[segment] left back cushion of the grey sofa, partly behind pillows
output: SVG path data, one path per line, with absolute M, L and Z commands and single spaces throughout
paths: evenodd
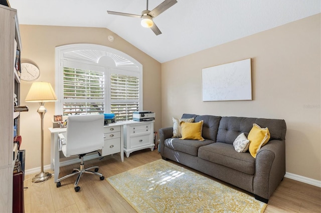
M 182 118 L 190 118 L 190 117 L 194 117 L 194 122 L 199 122 L 201 120 L 204 120 L 203 129 L 202 129 L 202 136 L 205 139 L 210 139 L 210 140 L 213 140 L 214 142 L 216 141 L 216 136 L 218 133 L 221 116 L 197 115 L 197 114 L 183 114 L 182 115 Z

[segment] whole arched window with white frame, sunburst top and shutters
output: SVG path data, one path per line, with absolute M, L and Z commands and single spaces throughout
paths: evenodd
M 142 65 L 108 46 L 56 47 L 56 114 L 115 113 L 132 119 L 142 109 Z

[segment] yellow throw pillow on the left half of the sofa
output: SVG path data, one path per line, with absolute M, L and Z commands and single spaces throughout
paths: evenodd
M 202 129 L 204 120 L 199 122 L 185 122 L 181 121 L 182 137 L 180 139 L 191 139 L 203 141 Z

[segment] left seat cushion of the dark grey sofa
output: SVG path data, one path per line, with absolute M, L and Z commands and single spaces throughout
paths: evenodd
M 209 140 L 209 139 L 205 139 L 204 141 L 189 140 L 189 139 L 181 140 L 177 137 L 167 138 L 164 141 L 166 147 L 170 149 L 182 151 L 184 153 L 188 153 L 194 156 L 197 156 L 198 149 L 200 146 L 207 145 L 213 142 L 214 142 L 213 140 Z

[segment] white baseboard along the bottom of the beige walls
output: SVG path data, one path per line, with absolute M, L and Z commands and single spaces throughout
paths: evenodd
M 89 160 L 89 159 L 94 159 L 94 158 L 97 158 L 97 155 L 93 154 L 93 155 L 84 156 L 84 160 Z M 71 159 L 71 160 L 65 160 L 65 161 L 61 161 L 60 162 L 60 166 L 70 165 L 70 164 L 77 163 L 77 162 L 80 162 L 79 158 L 74 158 L 74 159 Z M 44 170 L 45 171 L 46 170 L 50 170 L 50 169 L 51 169 L 50 165 L 45 165 L 44 166 Z M 36 167 L 36 168 L 27 169 L 27 170 L 25 170 L 25 174 L 39 173 L 40 170 L 41 170 L 40 166 Z M 297 181 L 300 181 L 300 182 L 304 182 L 304 183 L 307 183 L 307 184 L 310 184 L 310 185 L 315 185 L 317 187 L 321 187 L 321 181 L 320 180 L 312 179 L 312 178 L 301 176 L 301 175 L 298 175 L 298 174 L 285 172 L 284 177 L 290 178 L 290 179 L 294 179 L 294 180 L 297 180 Z

